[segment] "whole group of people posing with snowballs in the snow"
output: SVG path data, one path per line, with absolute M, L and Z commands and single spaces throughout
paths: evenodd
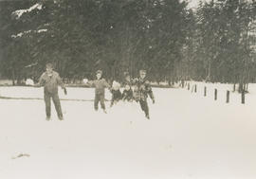
M 125 80 L 123 82 L 124 90 L 121 93 L 121 85 L 117 81 L 113 81 L 113 85 L 109 85 L 105 79 L 102 78 L 102 71 L 97 70 L 96 80 L 83 82 L 89 84 L 90 86 L 95 87 L 95 98 L 94 98 L 94 109 L 99 110 L 99 102 L 101 103 L 101 109 L 106 113 L 105 107 L 105 88 L 108 88 L 112 94 L 110 107 L 114 104 L 117 104 L 119 100 L 124 101 L 137 101 L 141 107 L 141 110 L 144 112 L 145 116 L 150 119 L 149 116 L 149 107 L 147 103 L 148 96 L 155 103 L 155 98 L 153 95 L 152 87 L 150 82 L 146 80 L 146 71 L 139 70 L 139 78 L 131 79 L 128 73 L 125 74 Z M 46 102 L 46 120 L 50 120 L 51 116 L 51 98 L 53 100 L 56 112 L 60 120 L 64 119 L 62 113 L 62 107 L 60 98 L 58 95 L 58 86 L 61 86 L 64 89 L 64 94 L 67 94 L 64 82 L 60 78 L 59 74 L 53 70 L 52 63 L 46 63 L 46 72 L 40 77 L 39 82 L 35 84 L 36 87 L 44 86 L 44 97 Z

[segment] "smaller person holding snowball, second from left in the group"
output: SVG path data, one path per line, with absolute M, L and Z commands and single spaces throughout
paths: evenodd
M 102 78 L 102 71 L 98 70 L 96 72 L 97 80 L 95 81 L 85 81 L 85 83 L 88 83 L 89 85 L 92 85 L 95 87 L 95 98 L 94 98 L 94 109 L 98 111 L 99 109 L 99 102 L 101 102 L 101 109 L 104 113 L 106 113 L 105 108 L 105 88 L 110 89 L 110 85 Z

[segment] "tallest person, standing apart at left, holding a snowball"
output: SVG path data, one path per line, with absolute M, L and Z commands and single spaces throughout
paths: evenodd
M 46 102 L 46 120 L 50 120 L 51 116 L 51 98 L 53 100 L 56 112 L 60 120 L 64 119 L 61 101 L 58 95 L 58 85 L 64 89 L 66 95 L 66 88 L 64 82 L 60 78 L 59 74 L 53 70 L 52 63 L 46 63 L 46 72 L 40 77 L 38 84 L 35 87 L 44 86 L 44 97 Z

